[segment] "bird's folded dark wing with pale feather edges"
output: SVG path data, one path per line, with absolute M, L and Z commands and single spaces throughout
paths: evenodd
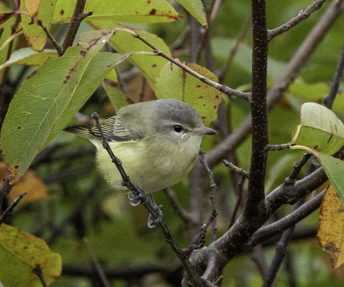
M 143 138 L 142 132 L 132 131 L 128 128 L 125 128 L 122 124 L 120 116 L 118 115 L 108 118 L 106 121 L 101 123 L 100 126 L 105 134 L 106 139 L 111 142 L 137 141 Z M 97 139 L 101 139 L 100 133 L 95 125 L 89 129 L 89 133 Z

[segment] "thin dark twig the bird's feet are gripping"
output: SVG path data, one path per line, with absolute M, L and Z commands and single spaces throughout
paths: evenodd
M 132 192 L 133 195 L 138 196 L 139 191 L 131 183 L 129 176 L 126 174 L 125 170 L 122 167 L 121 160 L 114 155 L 114 153 L 112 152 L 112 150 L 109 146 L 109 143 L 106 140 L 104 132 L 101 129 L 101 126 L 99 123 L 99 115 L 94 112 L 94 113 L 92 113 L 92 117 L 96 121 L 96 127 L 97 127 L 97 129 L 100 133 L 100 136 L 101 136 L 102 146 L 108 152 L 109 156 L 111 157 L 112 162 L 116 165 L 116 167 L 117 167 L 117 169 L 118 169 L 118 171 L 122 177 L 122 185 L 127 187 Z M 144 206 L 144 208 L 146 208 L 155 218 L 158 218 L 158 211 L 155 210 L 148 201 L 142 201 L 141 200 L 140 204 L 142 204 Z M 177 243 L 173 239 L 171 232 L 169 231 L 169 229 L 168 229 L 166 223 L 163 221 L 163 219 L 161 221 L 159 221 L 157 224 L 160 226 L 161 231 L 165 236 L 166 242 L 172 247 L 172 250 L 174 251 L 174 253 L 177 255 L 177 257 L 182 262 L 183 267 L 185 268 L 185 272 L 186 272 L 189 280 L 191 280 L 197 286 L 214 286 L 208 280 L 203 279 L 196 274 L 195 270 L 191 267 L 191 264 L 190 264 L 187 256 L 185 255 L 185 252 L 178 247 Z

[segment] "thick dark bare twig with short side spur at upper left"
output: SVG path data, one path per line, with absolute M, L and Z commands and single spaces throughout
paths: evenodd
M 58 54 L 59 57 L 63 55 L 68 47 L 71 47 L 73 45 L 73 41 L 79 29 L 81 21 L 83 21 L 87 16 L 92 15 L 93 13 L 92 11 L 89 11 L 88 13 L 84 14 L 85 4 L 86 0 L 76 1 L 71 23 L 69 24 L 66 37 L 62 44 L 62 52 Z

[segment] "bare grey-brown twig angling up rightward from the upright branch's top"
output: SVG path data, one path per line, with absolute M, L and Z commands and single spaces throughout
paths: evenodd
M 296 17 L 288 21 L 286 24 L 283 24 L 275 29 L 268 30 L 268 41 L 271 41 L 273 37 L 290 30 L 302 20 L 307 19 L 314 11 L 320 9 L 322 4 L 325 2 L 326 0 L 315 0 L 315 2 L 309 5 L 305 10 L 301 10 Z

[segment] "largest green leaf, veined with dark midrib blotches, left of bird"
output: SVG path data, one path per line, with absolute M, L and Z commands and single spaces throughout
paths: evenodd
M 80 34 L 78 46 L 69 47 L 62 57 L 46 60 L 23 82 L 10 103 L 0 139 L 3 160 L 9 164 L 14 182 L 109 71 L 130 56 L 99 52 L 114 31 Z

